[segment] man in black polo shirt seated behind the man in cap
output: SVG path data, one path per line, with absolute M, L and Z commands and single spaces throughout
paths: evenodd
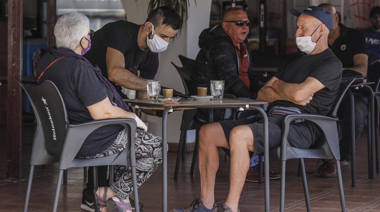
M 363 32 L 354 28 L 348 28 L 339 23 L 339 17 L 333 5 L 323 3 L 319 5 L 330 11 L 332 14 L 333 26 L 329 32 L 328 44 L 332 52 L 342 62 L 344 69 L 353 71 L 367 76 L 368 66 L 368 47 Z M 353 91 L 355 101 L 355 141 L 361 135 L 367 118 L 367 94 L 362 91 Z M 342 105 L 348 105 L 349 100 L 344 100 Z M 350 168 L 351 161 L 351 144 L 350 144 L 350 108 L 340 107 L 338 116 L 343 121 L 343 134 L 340 140 L 340 168 L 342 171 Z M 318 168 L 318 174 L 322 177 L 335 177 L 336 164 L 334 160 L 326 161 Z

